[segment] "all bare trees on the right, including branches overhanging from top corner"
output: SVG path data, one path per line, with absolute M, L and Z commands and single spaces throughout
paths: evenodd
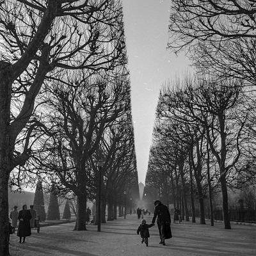
M 195 76 L 161 90 L 147 184 L 182 202 L 186 220 L 189 200 L 195 221 L 196 195 L 205 223 L 207 197 L 212 225 L 213 194 L 221 191 L 230 228 L 228 188 L 255 186 L 255 3 L 174 0 L 170 10 L 169 47 L 186 51 Z

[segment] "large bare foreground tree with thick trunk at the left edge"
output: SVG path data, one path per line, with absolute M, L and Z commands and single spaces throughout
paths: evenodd
M 9 175 L 29 157 L 29 148 L 24 148 L 19 156 L 13 154 L 15 140 L 33 113 L 36 95 L 45 78 L 63 68 L 97 70 L 119 65 L 125 61 L 123 32 L 119 1 L 1 2 L 1 255 L 9 255 L 6 228 Z M 20 111 L 11 113 L 13 100 L 17 98 Z

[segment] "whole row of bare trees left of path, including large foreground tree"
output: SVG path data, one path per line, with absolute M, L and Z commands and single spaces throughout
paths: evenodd
M 9 255 L 8 184 L 54 183 L 77 198 L 84 230 L 100 158 L 104 204 L 122 207 L 118 193 L 138 178 L 120 1 L 8 0 L 0 31 L 0 254 Z

